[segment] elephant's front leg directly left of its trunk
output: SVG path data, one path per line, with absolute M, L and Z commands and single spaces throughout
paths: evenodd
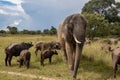
M 68 68 L 70 71 L 70 74 L 73 74 L 74 69 L 74 60 L 73 60 L 73 48 L 70 43 L 66 42 L 66 52 L 67 52 L 67 58 L 68 58 Z

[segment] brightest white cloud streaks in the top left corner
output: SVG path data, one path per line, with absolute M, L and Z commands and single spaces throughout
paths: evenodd
M 16 6 L 10 6 L 10 5 L 0 5 L 0 9 L 2 9 L 4 12 L 6 12 L 6 15 L 11 15 L 11 16 L 22 16 L 23 18 L 28 19 L 30 16 L 25 13 L 22 3 L 24 2 L 23 0 L 2 0 L 2 1 L 8 1 L 13 4 L 16 4 Z

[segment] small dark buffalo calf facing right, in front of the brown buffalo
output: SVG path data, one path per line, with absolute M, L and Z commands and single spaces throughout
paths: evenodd
M 49 63 L 52 62 L 52 56 L 53 55 L 58 55 L 57 51 L 53 51 L 53 50 L 45 50 L 41 53 L 41 65 L 44 66 L 44 60 L 49 58 Z

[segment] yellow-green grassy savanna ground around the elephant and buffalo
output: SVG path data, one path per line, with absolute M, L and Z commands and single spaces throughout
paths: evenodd
M 104 39 L 101 39 L 92 42 L 91 45 L 84 46 L 81 64 L 78 69 L 78 80 L 114 80 L 111 55 L 101 50 L 103 40 Z M 59 54 L 53 56 L 52 64 L 49 64 L 48 60 L 45 60 L 45 66 L 43 67 L 40 65 L 40 56 L 35 55 L 35 49 L 32 47 L 30 48 L 32 54 L 30 69 L 26 69 L 25 66 L 21 68 L 18 67 L 19 64 L 16 61 L 19 57 L 13 57 L 11 67 L 5 66 L 4 49 L 8 44 L 14 42 L 33 42 L 34 44 L 38 41 L 57 41 L 57 36 L 8 35 L 6 37 L 0 37 L 0 80 L 43 80 L 42 78 L 36 77 L 11 75 L 2 73 L 2 71 L 30 74 L 38 77 L 44 76 L 54 80 L 72 80 L 72 76 L 68 75 L 68 66 L 62 60 L 62 51 L 58 51 Z M 117 80 L 120 80 L 120 70 L 117 72 Z

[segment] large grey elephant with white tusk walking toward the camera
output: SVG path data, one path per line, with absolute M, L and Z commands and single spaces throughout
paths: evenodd
M 77 71 L 85 42 L 86 20 L 81 14 L 68 16 L 58 28 L 58 39 L 68 62 L 70 74 L 76 80 Z

